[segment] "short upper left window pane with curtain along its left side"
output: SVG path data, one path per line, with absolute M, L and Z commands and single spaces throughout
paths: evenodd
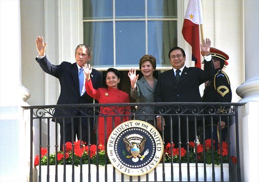
M 83 0 L 83 19 L 111 19 L 112 0 Z

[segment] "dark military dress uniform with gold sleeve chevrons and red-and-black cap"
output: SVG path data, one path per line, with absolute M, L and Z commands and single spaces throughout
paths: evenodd
M 212 58 L 217 57 L 225 61 L 225 65 L 228 64 L 228 55 L 224 52 L 211 48 Z M 206 68 L 205 68 L 206 69 Z M 230 87 L 230 81 L 227 74 L 221 69 L 215 69 L 215 75 L 212 80 L 205 82 L 204 95 L 202 98 L 203 102 L 218 102 L 218 103 L 230 103 L 232 99 L 232 92 Z M 216 106 L 216 107 L 205 107 L 205 111 L 209 112 L 209 109 L 213 109 L 215 113 L 226 114 L 229 112 L 230 107 L 228 106 Z M 221 132 L 218 130 L 218 122 L 224 121 L 227 125 L 228 117 L 227 116 L 214 116 L 213 122 L 211 117 L 208 116 L 205 120 L 205 139 L 210 139 L 213 136 L 215 140 L 215 147 L 218 147 L 218 133 L 221 133 L 221 140 L 225 141 L 227 128 L 224 127 L 221 129 Z M 211 133 L 211 124 L 213 123 L 213 133 Z M 220 128 L 220 127 L 219 127 Z

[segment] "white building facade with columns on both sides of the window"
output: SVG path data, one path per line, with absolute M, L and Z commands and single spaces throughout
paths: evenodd
M 187 4 L 177 1 L 177 42 L 190 55 L 181 34 Z M 205 37 L 230 57 L 232 102 L 247 103 L 239 109 L 241 177 L 259 181 L 259 1 L 202 0 L 202 6 Z M 55 105 L 59 96 L 58 80 L 35 60 L 35 39 L 48 42 L 52 64 L 74 62 L 83 42 L 82 1 L 1 0 L 0 10 L 0 181 L 27 181 L 30 123 L 21 106 Z M 188 56 L 186 65 L 193 66 Z

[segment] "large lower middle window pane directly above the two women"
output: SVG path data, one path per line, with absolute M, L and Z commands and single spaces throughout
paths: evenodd
M 116 66 L 139 65 L 146 52 L 145 21 L 116 22 Z

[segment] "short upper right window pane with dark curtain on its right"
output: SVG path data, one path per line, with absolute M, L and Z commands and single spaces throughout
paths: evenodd
M 148 0 L 148 18 L 177 18 L 177 0 Z

